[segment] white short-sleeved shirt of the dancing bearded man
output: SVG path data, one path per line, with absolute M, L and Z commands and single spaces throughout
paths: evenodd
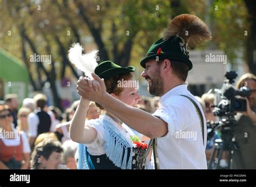
M 199 106 L 204 117 L 204 144 L 200 118 L 191 97 Z M 159 169 L 207 169 L 206 120 L 197 99 L 187 90 L 185 84 L 179 85 L 160 99 L 159 109 L 153 113 L 167 123 L 168 133 L 157 138 Z M 147 169 L 154 168 L 153 154 Z

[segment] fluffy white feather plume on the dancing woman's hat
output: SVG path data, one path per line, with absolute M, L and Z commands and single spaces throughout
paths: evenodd
M 72 44 L 72 47 L 69 49 L 69 60 L 75 64 L 77 69 L 80 69 L 86 76 L 92 78 L 91 73 L 94 73 L 94 70 L 98 65 L 96 56 L 99 51 L 93 50 L 83 54 L 83 50 L 83 46 L 79 43 Z

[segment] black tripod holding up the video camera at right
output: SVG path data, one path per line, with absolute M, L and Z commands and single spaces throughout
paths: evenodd
M 231 169 L 232 153 L 234 150 L 238 150 L 237 142 L 234 139 L 234 119 L 222 121 L 225 123 L 220 124 L 221 139 L 215 140 L 214 149 L 211 154 L 210 161 L 208 163 L 208 169 L 223 169 L 220 167 L 220 160 L 224 152 L 227 153 L 228 159 L 228 164 L 225 169 Z M 215 154 L 217 154 L 217 157 L 215 157 L 214 159 Z

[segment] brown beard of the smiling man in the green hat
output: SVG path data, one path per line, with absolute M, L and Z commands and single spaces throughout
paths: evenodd
M 160 76 L 159 68 L 154 72 L 152 77 L 146 76 L 145 79 L 150 80 L 150 82 L 147 83 L 147 90 L 149 90 L 151 95 L 162 96 L 164 94 L 164 82 L 163 78 Z

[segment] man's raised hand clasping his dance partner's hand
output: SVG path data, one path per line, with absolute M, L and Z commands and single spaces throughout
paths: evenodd
M 100 103 L 100 100 L 107 94 L 104 79 L 92 73 L 93 80 L 80 77 L 77 83 L 78 94 L 85 99 Z

